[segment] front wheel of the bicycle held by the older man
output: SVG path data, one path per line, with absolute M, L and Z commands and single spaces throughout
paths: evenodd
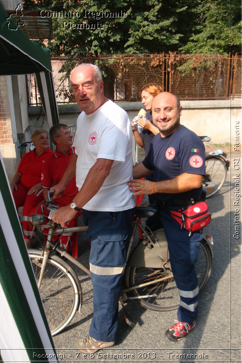
M 40 275 L 42 251 L 28 250 L 36 281 Z M 82 304 L 81 285 L 78 286 L 75 272 L 61 258 L 50 256 L 47 260 L 40 286 L 40 295 L 49 322 L 52 336 L 60 333 L 73 319 Z

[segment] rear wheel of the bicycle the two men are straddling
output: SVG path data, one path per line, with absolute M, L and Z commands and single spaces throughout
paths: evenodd
M 212 269 L 212 254 L 204 238 L 200 242 L 195 269 L 199 291 L 201 291 L 208 282 Z M 165 280 L 156 282 L 160 278 L 165 278 Z M 152 281 L 153 283 L 151 285 L 137 287 L 133 290 L 139 303 L 151 310 L 167 311 L 177 309 L 179 307 L 180 296 L 171 270 L 126 267 L 125 282 L 127 287 L 134 287 Z M 147 295 L 156 296 L 142 298 Z

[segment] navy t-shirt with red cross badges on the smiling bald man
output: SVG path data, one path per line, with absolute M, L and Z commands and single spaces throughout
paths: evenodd
M 181 125 L 171 135 L 157 134 L 143 160 L 145 168 L 153 170 L 153 181 L 169 180 L 188 173 L 205 175 L 205 148 L 202 140 Z M 157 193 L 157 199 L 182 200 L 200 197 L 202 186 L 183 193 Z

